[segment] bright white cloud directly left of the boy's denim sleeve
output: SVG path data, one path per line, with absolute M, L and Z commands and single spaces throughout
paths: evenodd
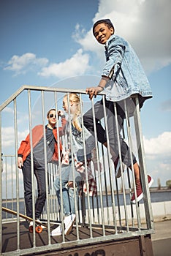
M 77 53 L 71 59 L 61 63 L 53 63 L 48 67 L 43 67 L 38 75 L 43 77 L 50 77 L 51 75 L 57 78 L 68 78 L 73 75 L 82 75 L 88 67 L 89 56 L 87 53 L 83 54 L 83 50 L 77 50 Z

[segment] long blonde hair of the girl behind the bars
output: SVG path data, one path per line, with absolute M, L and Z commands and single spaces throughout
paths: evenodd
M 67 98 L 67 94 L 64 96 L 64 98 Z M 78 123 L 77 121 L 77 118 L 78 116 L 80 116 L 80 97 L 77 95 L 77 94 L 74 94 L 74 93 L 70 93 L 69 94 L 69 102 L 75 102 L 76 103 L 76 106 L 77 106 L 77 109 L 73 115 L 73 118 L 72 118 L 72 124 L 74 125 L 74 127 L 79 131 L 81 132 L 82 129 L 80 127 L 80 124 Z

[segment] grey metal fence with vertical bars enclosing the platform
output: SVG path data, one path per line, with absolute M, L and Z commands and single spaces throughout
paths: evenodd
M 81 99 L 81 116 L 83 122 L 84 113 L 92 108 L 94 115 L 94 103 L 102 99 L 104 94 L 99 94 L 96 99 L 91 101 L 88 99 L 83 90 L 74 89 L 58 89 L 39 86 L 23 86 L 15 94 L 12 95 L 4 104 L 0 106 L 0 136 L 1 136 L 1 178 L 0 178 L 0 203 L 5 208 L 10 208 L 17 212 L 17 216 L 7 212 L 0 212 L 0 240 L 2 255 L 26 255 L 34 252 L 46 252 L 47 250 L 56 250 L 61 248 L 69 248 L 81 244 L 91 244 L 99 241 L 110 241 L 113 239 L 130 238 L 134 236 L 145 236 L 153 233 L 153 217 L 151 211 L 151 198 L 148 189 L 148 180 L 145 167 L 145 152 L 142 142 L 142 130 L 140 124 L 140 108 L 138 97 L 135 95 L 131 100 L 134 102 L 134 111 L 130 114 L 130 105 L 128 100 L 123 101 L 123 109 L 125 120 L 121 131 L 124 140 L 129 145 L 131 151 L 137 157 L 140 164 L 140 174 L 142 181 L 142 189 L 144 198 L 141 203 L 133 205 L 131 203 L 132 193 L 135 192 L 134 173 L 125 165 L 121 164 L 121 178 L 116 178 L 115 168 L 111 160 L 110 148 L 102 145 L 97 141 L 96 127 L 94 128 L 95 152 L 97 157 L 97 167 L 95 170 L 94 164 L 91 163 L 94 178 L 97 184 L 97 195 L 82 195 L 78 198 L 75 195 L 76 221 L 74 225 L 75 238 L 69 241 L 69 238 L 62 233 L 60 242 L 57 242 L 56 237 L 51 237 L 50 232 L 52 225 L 62 225 L 64 227 L 64 207 L 61 203 L 61 209 L 58 206 L 56 192 L 53 187 L 56 175 L 61 172 L 61 163 L 55 165 L 49 163 L 46 167 L 46 203 L 42 212 L 41 219 L 47 223 L 45 235 L 47 243 L 43 246 L 37 245 L 37 234 L 33 230 L 32 246 L 24 248 L 21 246 L 20 222 L 24 219 L 20 218 L 19 213 L 26 214 L 25 204 L 23 199 L 23 174 L 18 169 L 18 147 L 20 141 L 23 140 L 28 132 L 36 124 L 46 124 L 46 113 L 50 108 L 56 108 L 56 113 L 62 108 L 62 99 L 65 94 L 70 92 L 77 93 Z M 129 99 L 130 100 L 130 99 Z M 105 102 L 104 102 L 105 105 Z M 116 110 L 115 103 L 113 108 Z M 105 108 L 104 108 L 105 112 Z M 71 122 L 71 118 L 68 118 Z M 95 116 L 94 116 L 95 125 Z M 57 121 L 57 129 L 60 127 L 60 120 Z M 107 116 L 104 113 L 102 126 L 107 134 Z M 118 138 L 119 138 L 118 132 Z M 66 143 L 66 138 L 61 138 L 62 144 Z M 107 145 L 109 145 L 107 138 Z M 31 146 L 32 148 L 32 146 Z M 86 150 L 84 148 L 84 150 Z M 121 161 L 121 150 L 119 150 Z M 45 159 L 46 159 L 45 151 Z M 31 160 L 32 161 L 32 160 Z M 122 163 L 122 162 L 121 162 Z M 133 162 L 132 162 L 133 165 Z M 72 157 L 72 167 L 74 159 Z M 32 178 L 34 180 L 34 173 Z M 86 185 L 88 186 L 88 175 L 86 166 Z M 37 197 L 37 182 L 33 184 L 34 200 Z M 74 187 L 74 190 L 76 188 Z M 62 197 L 62 193 L 61 193 Z M 34 218 L 35 220 L 35 218 Z M 12 252 L 7 252 L 4 245 L 4 229 L 5 223 L 16 223 L 15 238 L 17 239 L 16 248 Z M 143 225 L 142 225 L 143 224 Z M 35 225 L 35 224 L 34 224 Z M 63 229 L 64 230 L 64 229 Z M 80 233 L 84 230 L 86 236 Z M 86 231 L 85 231 L 86 230 Z M 98 230 L 98 236 L 95 231 Z M 27 229 L 24 232 L 28 232 Z

